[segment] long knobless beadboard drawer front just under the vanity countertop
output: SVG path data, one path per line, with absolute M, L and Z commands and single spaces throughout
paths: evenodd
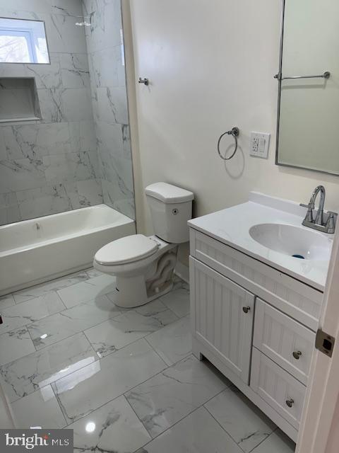
M 191 256 L 249 289 L 314 332 L 318 328 L 323 293 L 261 261 L 190 229 Z

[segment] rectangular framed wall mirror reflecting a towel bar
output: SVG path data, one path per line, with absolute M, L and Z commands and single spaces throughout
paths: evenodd
M 329 74 L 328 74 L 329 73 Z M 339 1 L 283 1 L 276 164 L 339 174 Z

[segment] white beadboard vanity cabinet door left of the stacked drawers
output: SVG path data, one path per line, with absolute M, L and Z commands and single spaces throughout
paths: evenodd
M 249 384 L 254 294 L 190 258 L 193 335 Z

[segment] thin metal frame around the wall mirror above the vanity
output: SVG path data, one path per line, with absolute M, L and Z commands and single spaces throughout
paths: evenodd
M 280 55 L 279 55 L 279 71 L 278 74 L 275 74 L 274 79 L 278 80 L 278 108 L 277 108 L 277 130 L 276 130 L 276 139 L 275 139 L 275 165 L 288 167 L 288 168 L 301 168 L 302 170 L 307 171 L 316 171 L 317 173 L 326 173 L 328 175 L 339 176 L 339 172 L 335 173 L 333 171 L 326 170 L 317 170 L 316 168 L 308 168 L 299 165 L 292 164 L 281 164 L 278 161 L 278 152 L 279 152 L 279 132 L 280 132 L 280 101 L 281 101 L 281 86 L 282 86 L 282 74 L 283 74 L 283 49 L 284 49 L 284 24 L 285 24 L 285 4 L 287 0 L 281 0 L 281 19 L 280 19 Z

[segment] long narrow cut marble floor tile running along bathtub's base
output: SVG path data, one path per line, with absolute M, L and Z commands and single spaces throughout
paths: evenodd
M 69 287 L 75 285 L 78 282 L 88 280 L 88 275 L 85 271 L 66 275 L 66 277 L 60 277 L 49 282 L 41 283 L 30 288 L 21 289 L 20 291 L 14 292 L 13 297 L 16 304 L 25 302 L 26 300 L 33 299 L 34 297 L 43 296 L 47 292 L 57 291 L 57 289 Z

